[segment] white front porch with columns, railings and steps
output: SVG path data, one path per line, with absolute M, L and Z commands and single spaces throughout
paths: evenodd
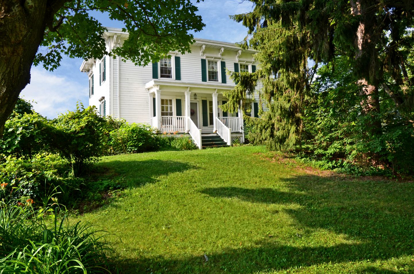
M 231 145 L 232 138 L 244 142 L 242 111 L 226 113 L 219 108 L 227 100 L 222 91 L 228 89 L 218 89 L 212 84 L 202 87 L 190 84 L 177 87 L 171 86 L 171 82 L 157 85 L 154 80 L 145 88 L 149 91 L 149 123 L 160 133 L 188 133 L 200 149 L 202 133 L 217 134 L 227 145 Z

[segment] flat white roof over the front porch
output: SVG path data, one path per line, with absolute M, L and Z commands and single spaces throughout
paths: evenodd
M 171 81 L 171 80 L 159 80 L 154 79 L 144 85 L 144 88 L 152 93 L 156 90 L 165 91 L 192 91 L 200 93 L 222 93 L 234 89 L 234 84 L 221 84 L 221 83 L 199 83 L 199 82 L 183 82 L 183 81 Z

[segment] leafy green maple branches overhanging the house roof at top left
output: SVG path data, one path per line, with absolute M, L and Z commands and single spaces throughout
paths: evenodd
M 110 19 L 123 22 L 128 39 L 109 53 L 102 38 L 106 28 L 90 11 L 107 12 Z M 171 50 L 184 53 L 193 41 L 188 31 L 200 31 L 205 26 L 196 11 L 190 0 L 67 1 L 45 29 L 41 46 L 46 52 L 39 51 L 34 64 L 43 63 L 53 70 L 60 65 L 62 54 L 85 59 L 113 54 L 136 65 L 147 65 Z

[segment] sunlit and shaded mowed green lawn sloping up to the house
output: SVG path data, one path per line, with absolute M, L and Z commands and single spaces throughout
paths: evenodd
M 121 273 L 414 273 L 414 183 L 272 157 L 249 146 L 106 157 L 97 169 L 128 189 L 72 219 L 111 233 Z

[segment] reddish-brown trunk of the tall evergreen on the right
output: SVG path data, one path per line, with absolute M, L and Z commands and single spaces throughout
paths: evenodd
M 371 122 L 367 124 L 371 134 L 381 132 L 381 121 L 378 118 L 380 113 L 380 101 L 378 92 L 377 60 L 375 59 L 375 2 L 365 0 L 351 0 L 351 13 L 354 16 L 361 16 L 358 30 L 356 32 L 355 60 L 356 65 L 366 70 L 366 75 L 357 81 L 360 86 L 361 109 L 363 115 L 371 115 Z M 368 62 L 367 62 L 368 60 Z

